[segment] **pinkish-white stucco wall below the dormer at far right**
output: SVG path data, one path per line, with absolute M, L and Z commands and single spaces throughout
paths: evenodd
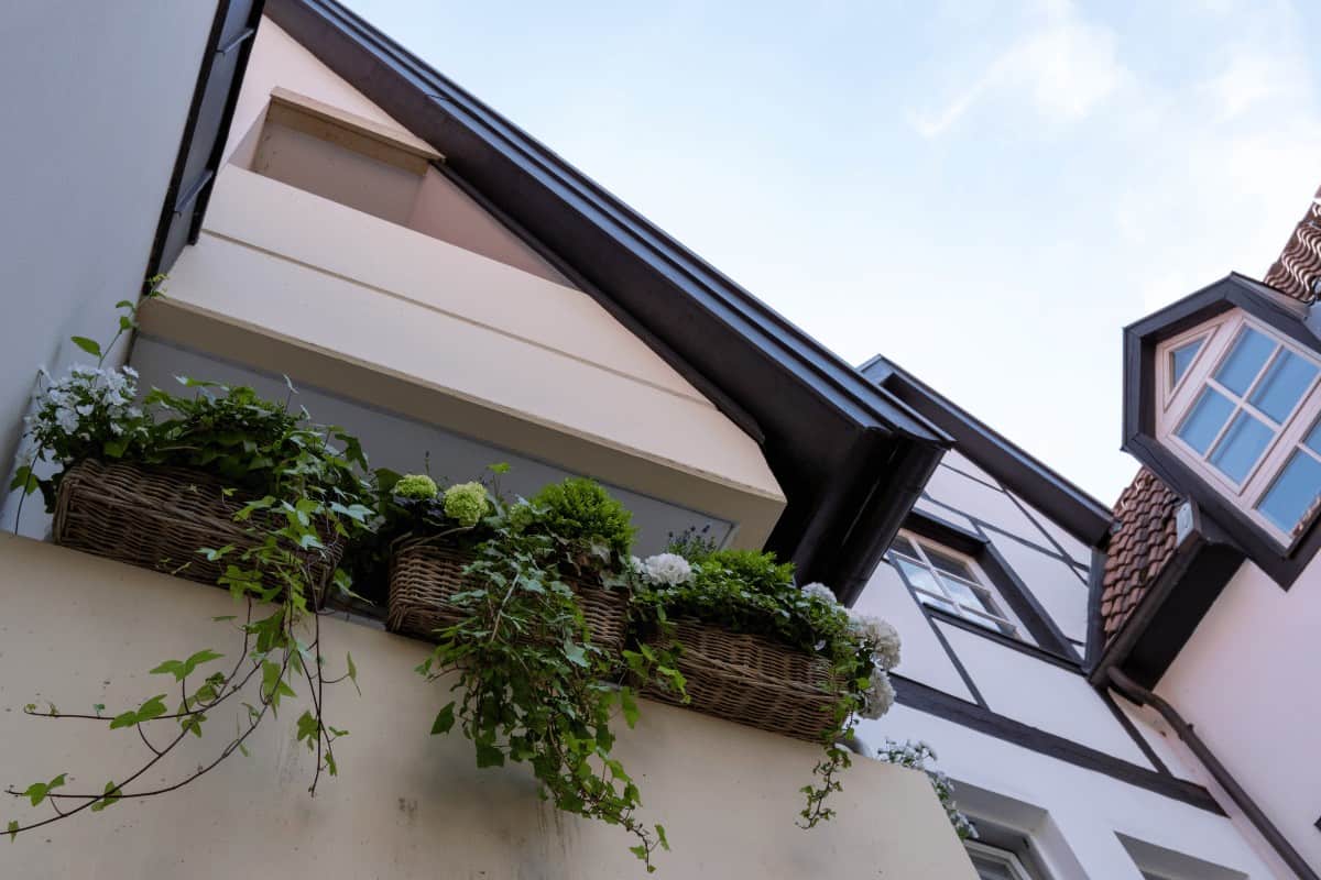
M 1182 584 L 1193 588 L 1196 584 Z M 1288 591 L 1239 567 L 1156 691 L 1321 871 L 1321 557 Z

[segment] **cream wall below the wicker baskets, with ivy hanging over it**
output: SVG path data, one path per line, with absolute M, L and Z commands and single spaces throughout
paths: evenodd
M 145 753 L 132 731 L 28 718 L 24 703 L 136 705 L 165 690 L 144 674 L 161 660 L 238 646 L 210 620 L 232 612 L 221 590 L 9 536 L 0 538 L 0 606 L 7 782 L 67 770 L 70 790 L 100 789 Z M 412 672 L 424 645 L 338 620 L 322 623 L 322 639 L 334 668 L 353 652 L 363 695 L 343 686 L 328 695 L 328 720 L 351 735 L 337 744 L 339 776 L 322 778 L 316 798 L 306 794 L 312 759 L 293 739 L 301 707 L 289 706 L 254 738 L 250 759 L 234 756 L 184 790 L 5 842 L 0 875 L 203 879 L 259 865 L 271 877 L 645 876 L 624 834 L 542 805 L 526 768 L 478 770 L 466 740 L 428 735 L 445 695 Z M 974 880 L 922 776 L 859 760 L 836 796 L 840 817 L 802 831 L 793 826 L 797 789 L 816 747 L 668 706 L 642 710 L 617 751 L 646 818 L 664 823 L 674 846 L 657 876 Z M 149 782 L 223 747 L 232 720 L 210 723 L 206 739 L 190 740 Z M 0 819 L 44 810 L 5 803 Z

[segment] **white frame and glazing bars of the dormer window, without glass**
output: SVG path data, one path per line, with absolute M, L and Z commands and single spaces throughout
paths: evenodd
M 1229 354 L 1230 346 L 1232 346 L 1234 340 L 1238 339 L 1239 332 L 1244 327 L 1251 327 L 1256 332 L 1269 338 L 1275 342 L 1276 350 L 1269 358 L 1267 358 L 1247 391 L 1239 396 L 1217 383 L 1214 373 L 1219 368 L 1225 356 Z M 1202 343 L 1201 350 L 1197 352 L 1192 365 L 1189 365 L 1184 376 L 1180 377 L 1178 384 L 1172 388 L 1173 376 L 1170 371 L 1173 364 L 1170 352 L 1202 336 L 1206 339 Z M 1190 467 L 1198 476 L 1202 476 L 1221 495 L 1227 497 L 1244 516 L 1248 517 L 1248 520 L 1252 521 L 1254 525 L 1259 526 L 1283 548 L 1291 549 L 1306 529 L 1312 516 L 1304 516 L 1303 521 L 1300 521 L 1292 532 L 1284 532 L 1276 526 L 1275 522 L 1260 513 L 1256 507 L 1264 500 L 1266 493 L 1269 492 L 1271 487 L 1275 484 L 1276 476 L 1280 475 L 1296 449 L 1304 449 L 1304 454 L 1321 460 L 1321 456 L 1314 455 L 1312 450 L 1306 449 L 1303 443 L 1303 438 L 1306 437 L 1308 431 L 1317 421 L 1317 414 L 1321 413 L 1321 372 L 1312 379 L 1312 385 L 1303 393 L 1293 412 L 1289 413 L 1283 422 L 1276 422 L 1273 418 L 1256 409 L 1248 398 L 1252 396 L 1252 392 L 1266 376 L 1281 350 L 1287 350 L 1295 356 L 1303 358 L 1321 371 L 1321 359 L 1300 347 L 1292 339 L 1288 339 L 1273 327 L 1262 323 L 1242 310 L 1229 311 L 1225 315 L 1198 325 L 1192 330 L 1162 342 L 1156 348 L 1155 379 L 1157 388 L 1160 389 L 1157 400 L 1161 401 L 1161 405 L 1156 409 L 1156 439 L 1166 449 L 1172 450 L 1184 464 Z M 1184 417 L 1192 410 L 1198 394 L 1201 394 L 1202 389 L 1207 387 L 1213 387 L 1218 393 L 1231 401 L 1234 404 L 1234 410 L 1225 420 L 1225 425 L 1221 427 L 1217 437 L 1207 445 L 1206 454 L 1203 455 L 1189 446 L 1176 431 L 1182 424 Z M 1234 422 L 1235 416 L 1243 410 L 1259 420 L 1267 427 L 1271 427 L 1273 435 L 1243 482 L 1234 483 L 1234 480 L 1215 468 L 1210 463 L 1209 458 L 1214 453 L 1221 437 L 1223 437 L 1225 431 L 1227 431 L 1230 425 Z

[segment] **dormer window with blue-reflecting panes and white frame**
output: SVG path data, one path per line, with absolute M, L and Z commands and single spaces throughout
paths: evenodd
M 1161 441 L 1284 546 L 1321 497 L 1321 360 L 1231 311 L 1157 350 Z

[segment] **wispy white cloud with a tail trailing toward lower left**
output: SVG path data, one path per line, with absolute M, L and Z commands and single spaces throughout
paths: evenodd
M 1083 21 L 1069 3 L 1046 4 L 1040 18 L 942 110 L 913 115 L 913 128 L 937 137 L 992 95 L 1026 98 L 1046 121 L 1074 123 L 1128 78 L 1110 28 Z

